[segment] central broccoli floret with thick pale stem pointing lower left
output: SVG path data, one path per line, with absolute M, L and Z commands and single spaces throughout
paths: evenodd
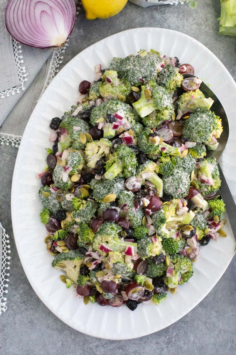
M 131 148 L 122 144 L 114 149 L 114 153 L 110 154 L 110 158 L 105 165 L 105 178 L 112 180 L 118 174 L 128 178 L 135 175 L 136 166 L 138 165 L 136 154 Z

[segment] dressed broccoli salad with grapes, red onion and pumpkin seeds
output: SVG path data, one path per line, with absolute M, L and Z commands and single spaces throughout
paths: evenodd
M 201 247 L 226 236 L 206 157 L 221 119 L 183 73 L 194 68 L 155 50 L 113 58 L 51 120 L 40 218 L 52 266 L 85 304 L 159 305 L 192 277 Z

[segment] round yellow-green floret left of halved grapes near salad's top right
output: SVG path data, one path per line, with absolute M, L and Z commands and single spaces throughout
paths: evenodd
M 181 87 L 183 75 L 178 72 L 174 65 L 166 65 L 157 75 L 157 84 L 163 86 L 169 93 Z

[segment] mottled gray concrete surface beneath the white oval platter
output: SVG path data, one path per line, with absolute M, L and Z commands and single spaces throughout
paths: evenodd
M 165 27 L 189 34 L 205 44 L 236 78 L 236 39 L 218 35 L 219 1 L 198 2 L 196 10 L 190 10 L 186 4 L 143 9 L 128 3 L 121 13 L 109 20 L 87 21 L 81 11 L 64 63 L 110 34 L 135 27 Z M 15 248 L 10 193 L 16 154 L 17 148 L 0 146 L 0 221 L 10 235 L 12 257 L 8 309 L 0 316 L 1 355 L 236 354 L 235 258 L 214 289 L 194 310 L 168 328 L 143 338 L 125 341 L 97 339 L 76 332 L 54 316 L 31 288 Z

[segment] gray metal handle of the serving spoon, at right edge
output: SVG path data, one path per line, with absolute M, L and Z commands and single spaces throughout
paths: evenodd
M 220 168 L 220 164 L 218 164 L 218 168 L 219 168 L 220 179 L 221 179 L 220 195 L 223 198 L 223 201 L 225 203 L 226 212 L 229 218 L 233 235 L 236 240 L 236 204 L 234 202 L 233 196 L 231 195 L 229 186 L 225 180 L 223 171 Z

